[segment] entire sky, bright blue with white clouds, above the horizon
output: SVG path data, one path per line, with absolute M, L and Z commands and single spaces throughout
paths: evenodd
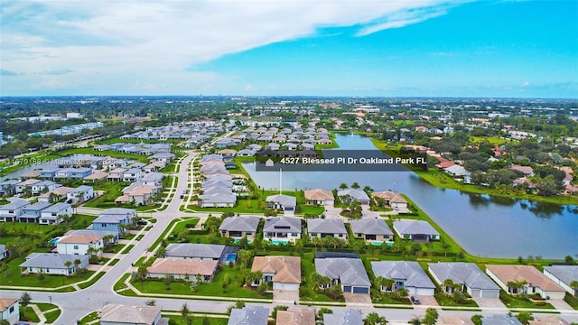
M 578 98 L 573 0 L 0 8 L 0 96 Z

